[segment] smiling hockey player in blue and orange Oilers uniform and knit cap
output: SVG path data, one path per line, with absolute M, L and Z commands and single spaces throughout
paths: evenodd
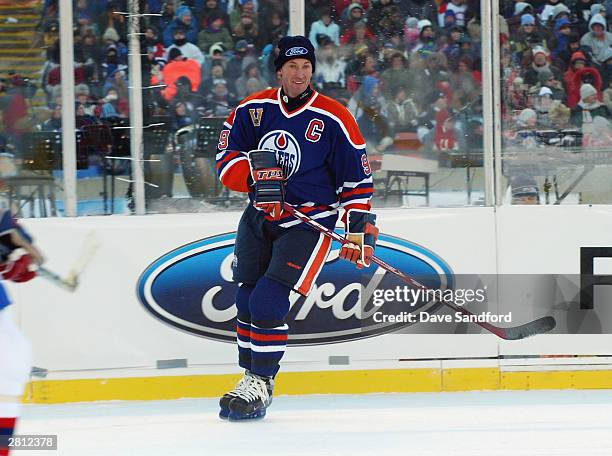
M 283 213 L 283 204 L 332 229 L 343 210 L 351 243 L 340 257 L 359 268 L 369 266 L 376 242 L 372 171 L 355 119 L 313 90 L 308 39 L 287 36 L 278 47 L 281 87 L 244 99 L 219 137 L 219 178 L 248 192 L 252 203 L 234 251 L 238 363 L 245 375 L 220 400 L 220 417 L 230 420 L 265 415 L 287 344 L 289 293 L 308 295 L 330 250 L 329 238 Z

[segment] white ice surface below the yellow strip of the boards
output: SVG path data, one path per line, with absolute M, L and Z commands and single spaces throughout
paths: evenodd
M 281 396 L 263 421 L 217 418 L 216 399 L 28 405 L 20 434 L 97 455 L 612 455 L 612 391 Z

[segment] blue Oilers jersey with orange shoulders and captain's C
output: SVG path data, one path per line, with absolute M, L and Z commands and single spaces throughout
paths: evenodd
M 285 200 L 328 228 L 340 209 L 370 210 L 365 141 L 355 118 L 337 101 L 313 91 L 306 104 L 287 112 L 280 89 L 267 89 L 229 115 L 219 136 L 217 173 L 223 185 L 249 192 L 251 199 L 247 152 L 254 149 L 277 151 L 287 179 Z M 288 228 L 301 222 L 284 215 L 276 223 Z

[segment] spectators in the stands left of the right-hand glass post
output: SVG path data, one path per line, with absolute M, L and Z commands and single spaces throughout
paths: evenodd
M 57 0 L 41 23 L 54 30 Z M 175 129 L 225 117 L 277 85 L 276 44 L 290 33 L 288 0 L 148 0 L 141 48 L 148 114 Z M 317 49 L 313 85 L 347 105 L 373 147 L 398 133 L 436 150 L 482 148 L 480 3 L 476 0 L 307 0 Z M 77 125 L 129 118 L 126 0 L 75 0 Z M 59 41 L 41 86 L 61 128 Z M 60 106 L 58 108 L 58 105 Z M 147 115 L 147 113 L 145 113 Z M 54 119 L 55 118 L 55 119 Z

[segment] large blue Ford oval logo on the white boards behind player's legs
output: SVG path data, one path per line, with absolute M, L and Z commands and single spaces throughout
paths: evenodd
M 138 280 L 138 297 L 156 318 L 191 334 L 219 341 L 235 341 L 238 285 L 232 279 L 235 233 L 202 239 L 173 250 L 154 261 Z M 402 311 L 434 312 L 435 302 L 372 304 L 373 290 L 395 289 L 404 283 L 372 265 L 358 270 L 338 259 L 332 245 L 327 264 L 307 298 L 292 293 L 287 317 L 289 345 L 336 343 L 395 331 L 409 323 L 375 322 L 373 314 Z M 433 252 L 404 239 L 380 235 L 376 255 L 431 288 L 452 288 L 453 274 Z M 364 272 L 365 271 L 365 272 Z M 424 279 L 424 277 L 426 279 Z M 363 287 L 363 304 L 360 294 Z

